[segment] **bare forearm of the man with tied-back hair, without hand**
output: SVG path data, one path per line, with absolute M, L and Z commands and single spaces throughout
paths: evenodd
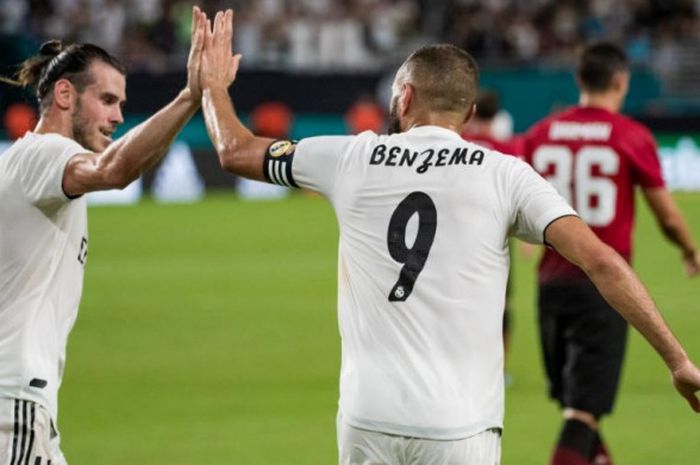
M 126 186 L 154 166 L 168 151 L 175 136 L 199 109 L 188 90 L 156 114 L 132 128 L 100 154 L 99 169 L 115 187 Z

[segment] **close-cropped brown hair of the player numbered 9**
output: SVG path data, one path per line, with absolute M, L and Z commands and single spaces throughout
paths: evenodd
M 416 99 L 436 111 L 468 112 L 479 86 L 472 56 L 451 44 L 419 48 L 404 62 Z

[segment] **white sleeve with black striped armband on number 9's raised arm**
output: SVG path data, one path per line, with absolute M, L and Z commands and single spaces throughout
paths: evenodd
M 275 141 L 264 162 L 267 180 L 273 184 L 311 189 L 330 196 L 341 159 L 355 136 L 319 136 L 292 141 Z

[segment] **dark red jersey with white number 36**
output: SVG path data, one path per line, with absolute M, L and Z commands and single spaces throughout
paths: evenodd
M 574 107 L 533 126 L 523 158 L 547 178 L 603 242 L 628 261 L 632 255 L 634 188 L 661 187 L 656 142 L 636 121 L 602 108 Z M 547 249 L 540 282 L 585 277 Z

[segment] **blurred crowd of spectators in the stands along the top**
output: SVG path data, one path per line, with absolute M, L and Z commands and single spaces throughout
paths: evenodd
M 363 70 L 448 41 L 480 62 L 566 63 L 581 43 L 613 39 L 656 65 L 700 42 L 700 0 L 203 0 L 234 8 L 247 66 Z M 131 70 L 181 66 L 192 0 L 0 0 L 4 36 L 98 43 Z

